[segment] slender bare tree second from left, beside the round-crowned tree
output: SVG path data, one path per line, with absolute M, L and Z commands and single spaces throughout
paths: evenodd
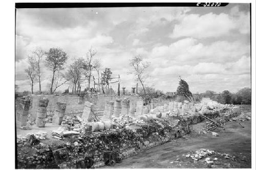
M 45 55 L 45 52 L 40 48 L 37 47 L 32 51 L 32 54 L 34 55 L 36 60 L 36 74 L 39 82 L 39 94 L 41 94 L 41 69 L 40 69 L 40 63 L 42 61 L 42 57 Z

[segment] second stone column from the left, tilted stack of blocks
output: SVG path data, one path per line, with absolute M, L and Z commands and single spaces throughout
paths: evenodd
M 36 118 L 37 127 L 45 127 L 46 125 L 46 114 L 47 114 L 48 102 L 49 100 L 46 98 L 39 99 L 38 108 L 37 108 L 37 118 Z

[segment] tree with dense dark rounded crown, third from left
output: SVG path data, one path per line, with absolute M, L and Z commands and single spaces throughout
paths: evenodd
M 67 54 L 63 52 L 60 48 L 50 48 L 50 50 L 46 53 L 46 66 L 48 66 L 53 72 L 52 82 L 50 87 L 51 94 L 53 94 L 53 83 L 54 83 L 55 72 L 63 69 L 63 65 L 67 61 L 67 58 L 68 58 Z

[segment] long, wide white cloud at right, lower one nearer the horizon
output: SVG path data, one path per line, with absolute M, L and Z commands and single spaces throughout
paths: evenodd
M 204 45 L 194 38 L 184 38 L 170 45 L 156 46 L 150 54 L 154 60 L 168 59 L 168 64 L 190 64 L 199 62 L 225 63 L 239 59 L 249 53 L 250 46 L 241 41 L 214 41 Z M 157 66 L 157 65 L 155 65 Z

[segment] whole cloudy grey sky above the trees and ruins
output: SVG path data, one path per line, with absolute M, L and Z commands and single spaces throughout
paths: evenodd
M 113 76 L 119 74 L 120 86 L 129 90 L 136 86 L 128 74 L 129 59 L 140 54 L 151 62 L 148 86 L 176 91 L 181 76 L 193 93 L 236 92 L 250 87 L 249 19 L 249 4 L 17 9 L 15 84 L 19 91 L 30 90 L 26 57 L 37 46 L 62 48 L 69 56 L 67 66 L 74 58 L 86 57 L 93 46 L 103 68 L 111 68 Z M 42 69 L 45 90 L 51 74 L 44 64 Z

